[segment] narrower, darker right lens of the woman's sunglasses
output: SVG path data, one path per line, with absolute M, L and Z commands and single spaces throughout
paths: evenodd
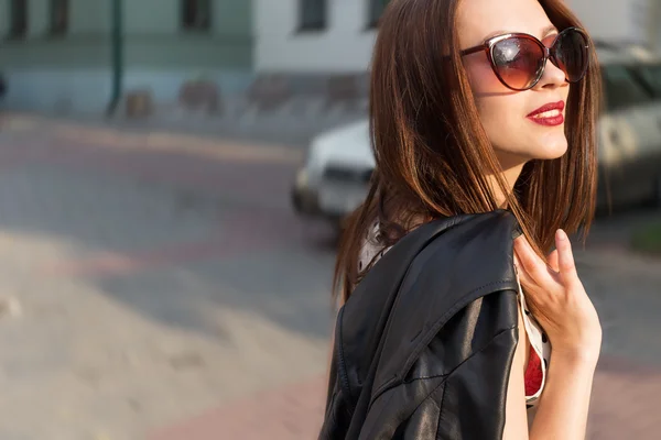
M 589 64 L 586 37 L 576 30 L 563 31 L 552 50 L 553 63 L 562 69 L 570 82 L 576 82 L 585 76 Z

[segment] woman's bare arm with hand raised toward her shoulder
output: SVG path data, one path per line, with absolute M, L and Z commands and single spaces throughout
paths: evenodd
M 517 265 L 527 288 L 529 306 L 546 331 L 553 352 L 530 435 L 521 432 L 520 409 L 517 408 L 512 410 L 517 432 L 508 440 L 585 439 L 589 398 L 602 345 L 602 324 L 578 278 L 572 245 L 564 231 L 557 231 L 555 245 L 556 250 L 546 265 L 524 238 L 520 237 L 514 242 Z M 521 369 L 521 365 L 516 367 Z M 512 373 L 517 376 L 512 380 L 523 381 L 520 370 L 512 370 Z M 524 406 L 524 398 L 521 399 L 517 389 L 513 387 L 511 396 L 508 391 L 508 400 L 512 397 L 520 402 L 517 405 Z

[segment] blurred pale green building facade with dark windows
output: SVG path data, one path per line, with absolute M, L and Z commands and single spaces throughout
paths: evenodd
M 205 77 L 224 94 L 251 79 L 248 0 L 0 0 L 2 105 L 44 111 L 104 111 L 112 95 L 112 8 L 121 1 L 122 91 L 148 89 L 175 102 Z

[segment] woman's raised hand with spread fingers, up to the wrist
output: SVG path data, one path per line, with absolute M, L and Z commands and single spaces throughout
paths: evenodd
M 553 356 L 596 365 L 602 346 L 602 324 L 576 273 L 567 234 L 555 234 L 556 250 L 549 265 L 532 250 L 525 237 L 514 240 L 514 264 L 530 311 L 544 329 Z

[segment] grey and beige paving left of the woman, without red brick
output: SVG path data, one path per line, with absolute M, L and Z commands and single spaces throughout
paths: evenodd
M 330 264 L 289 206 L 299 152 L 13 124 L 0 296 L 22 315 L 0 316 L 1 439 L 140 439 L 323 364 Z

